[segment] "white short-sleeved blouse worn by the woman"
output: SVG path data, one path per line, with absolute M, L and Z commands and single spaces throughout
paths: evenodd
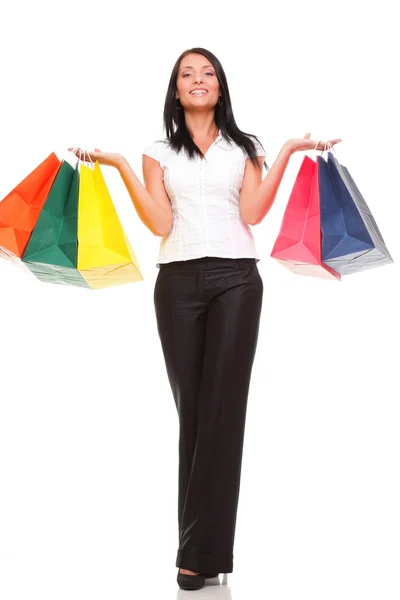
M 257 155 L 265 156 L 254 140 Z M 253 234 L 239 213 L 247 153 L 221 136 L 208 148 L 204 159 L 189 159 L 185 150 L 171 150 L 167 138 L 156 140 L 142 154 L 156 159 L 164 171 L 173 225 L 160 242 L 157 266 L 203 256 L 256 258 Z

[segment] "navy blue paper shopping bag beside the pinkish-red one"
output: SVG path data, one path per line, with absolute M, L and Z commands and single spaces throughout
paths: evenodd
M 350 173 L 332 152 L 318 157 L 322 260 L 342 275 L 393 262 Z

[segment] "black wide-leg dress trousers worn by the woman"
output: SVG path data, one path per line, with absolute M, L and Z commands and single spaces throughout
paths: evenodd
M 247 397 L 263 296 L 257 261 L 160 265 L 157 328 L 179 417 L 176 566 L 231 573 Z

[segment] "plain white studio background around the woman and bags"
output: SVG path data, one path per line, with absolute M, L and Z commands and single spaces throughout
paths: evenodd
M 142 180 L 173 64 L 193 46 L 221 60 L 236 121 L 270 164 L 290 137 L 343 138 L 337 155 L 395 260 L 337 283 L 270 258 L 295 154 L 252 228 L 264 304 L 234 572 L 201 593 L 398 600 L 395 3 L 9 2 L 0 198 L 68 146 L 119 152 Z M 103 173 L 143 282 L 89 291 L 0 261 L 2 600 L 177 597 L 178 422 L 153 305 L 160 238 L 118 173 Z

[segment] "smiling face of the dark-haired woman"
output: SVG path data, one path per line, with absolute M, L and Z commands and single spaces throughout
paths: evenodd
M 176 87 L 176 98 L 185 110 L 210 110 L 218 102 L 219 83 L 215 69 L 202 54 L 187 54 L 182 58 Z M 196 89 L 203 91 L 194 92 Z

